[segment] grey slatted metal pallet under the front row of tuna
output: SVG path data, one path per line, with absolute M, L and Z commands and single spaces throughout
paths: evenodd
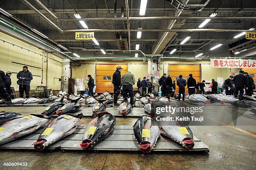
M 36 132 L 27 135 L 19 140 L 9 142 L 0 145 L 0 149 L 26 149 L 33 150 L 33 142 L 38 139 L 38 136 L 43 131 L 39 129 Z M 84 128 L 80 128 L 74 134 L 65 137 L 63 140 L 56 142 L 46 150 L 82 150 L 80 143 L 84 134 Z M 166 137 L 160 137 L 152 151 L 205 151 L 209 152 L 209 147 L 200 141 L 197 137 L 194 137 L 195 146 L 192 150 L 187 150 L 176 142 L 167 139 Z M 133 127 L 131 125 L 115 125 L 113 133 L 110 134 L 105 140 L 97 143 L 92 150 L 106 150 L 106 151 L 140 151 L 138 143 L 133 134 Z

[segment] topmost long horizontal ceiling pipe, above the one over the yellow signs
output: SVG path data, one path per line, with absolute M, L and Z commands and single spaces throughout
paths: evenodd
M 59 18 L 62 21 L 90 21 L 90 20 L 126 20 L 127 18 L 115 17 L 115 18 Z M 129 17 L 129 20 L 256 20 L 256 17 Z

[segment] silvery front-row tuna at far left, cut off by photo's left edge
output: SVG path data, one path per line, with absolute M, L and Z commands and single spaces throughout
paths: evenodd
M 50 122 L 50 117 L 41 114 L 20 115 L 0 126 L 0 145 L 35 132 Z

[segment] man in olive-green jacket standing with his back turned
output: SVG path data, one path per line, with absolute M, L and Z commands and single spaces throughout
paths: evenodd
M 128 101 L 128 94 L 131 97 L 130 103 L 133 106 L 133 85 L 135 84 L 134 75 L 130 71 L 125 73 L 122 77 L 122 94 L 125 101 Z

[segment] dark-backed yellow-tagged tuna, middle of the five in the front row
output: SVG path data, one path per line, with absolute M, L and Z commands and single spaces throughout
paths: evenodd
M 115 125 L 115 117 L 108 112 L 99 112 L 84 130 L 84 136 L 80 147 L 91 150 L 98 142 L 112 133 Z

